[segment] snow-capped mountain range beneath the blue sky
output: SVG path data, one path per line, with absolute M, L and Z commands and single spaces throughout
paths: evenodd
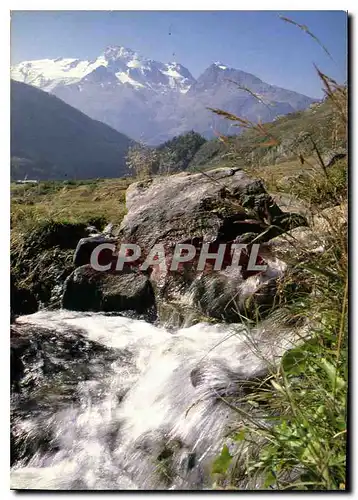
M 24 61 L 11 68 L 11 77 L 53 93 L 91 118 L 149 144 L 188 130 L 208 138 L 238 133 L 208 107 L 271 121 L 314 102 L 222 62 L 211 64 L 195 79 L 177 62 L 146 59 L 119 46 L 107 47 L 94 61 Z

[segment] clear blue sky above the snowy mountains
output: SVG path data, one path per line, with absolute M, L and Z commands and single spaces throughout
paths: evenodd
M 279 14 L 305 24 L 334 61 Z M 346 79 L 346 23 L 344 11 L 13 11 L 11 60 L 95 59 L 106 46 L 122 45 L 151 59 L 180 62 L 195 77 L 221 61 L 320 97 L 313 63 L 340 82 Z

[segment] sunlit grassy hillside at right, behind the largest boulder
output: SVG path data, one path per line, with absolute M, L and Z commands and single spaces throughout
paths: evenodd
M 238 117 L 240 118 L 240 117 Z M 225 163 L 246 169 L 270 167 L 281 162 L 309 158 L 313 142 L 321 152 L 346 147 L 346 131 L 337 118 L 334 103 L 326 99 L 305 111 L 280 116 L 271 123 L 243 127 L 240 135 L 207 141 L 196 153 L 191 167 Z M 308 165 L 296 163 L 296 171 Z

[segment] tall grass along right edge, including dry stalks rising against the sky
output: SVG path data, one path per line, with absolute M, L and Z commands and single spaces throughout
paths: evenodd
M 282 19 L 299 27 L 330 56 L 306 26 Z M 316 72 L 325 98 L 335 110 L 332 141 L 338 132 L 346 138 L 347 87 L 317 67 Z M 261 123 L 222 110 L 212 111 L 254 131 L 263 138 L 260 146 L 280 143 Z M 213 465 L 214 487 L 219 489 L 331 491 L 347 487 L 347 217 L 337 216 L 337 210 L 342 214 L 343 207 L 344 214 L 347 205 L 347 164 L 342 160 L 334 168 L 327 168 L 317 144 L 314 151 L 322 175 L 312 170 L 314 182 L 296 189 L 294 194 L 298 200 L 309 202 L 310 220 L 317 221 L 319 216 L 320 225 L 314 226 L 313 235 L 324 251 L 312 252 L 311 247 L 302 247 L 302 242 L 300 248 L 293 248 L 291 272 L 296 281 L 308 286 L 285 303 L 292 318 L 307 321 L 309 335 L 286 352 L 278 367 L 268 365 L 267 378 L 252 383 L 250 393 L 239 401 L 240 408 L 222 398 L 239 417 L 230 433 L 237 451 L 231 455 L 224 446 Z M 298 151 L 295 153 L 301 164 L 307 161 Z M 280 301 L 278 304 L 282 307 Z M 259 350 L 257 345 L 253 348 Z M 244 418 L 247 415 L 250 418 Z

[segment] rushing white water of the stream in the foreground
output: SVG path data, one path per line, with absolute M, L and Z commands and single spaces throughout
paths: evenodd
M 56 442 L 13 467 L 12 487 L 31 489 L 210 487 L 213 457 L 238 420 L 220 396 L 238 397 L 240 381 L 262 374 L 294 337 L 271 320 L 249 335 L 242 325 L 208 323 L 170 332 L 65 310 L 18 324 L 81 331 L 118 353 L 99 377 L 77 384 L 76 401 L 23 422 L 28 439 L 50 430 Z

